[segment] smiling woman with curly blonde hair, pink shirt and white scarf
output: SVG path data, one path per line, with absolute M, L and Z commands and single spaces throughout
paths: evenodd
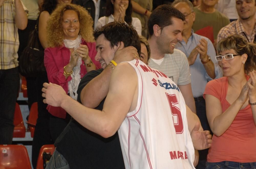
M 94 59 L 97 51 L 92 25 L 89 13 L 74 4 L 59 5 L 47 23 L 48 48 L 45 49 L 44 64 L 48 81 L 62 86 L 75 100 L 81 78 L 100 68 L 100 63 Z M 57 138 L 70 116 L 60 107 L 48 105 L 47 110 L 52 115 L 50 128 L 55 130 L 53 137 Z

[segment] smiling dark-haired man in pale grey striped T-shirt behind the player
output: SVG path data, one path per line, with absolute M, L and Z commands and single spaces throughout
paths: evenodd
M 148 65 L 162 71 L 178 85 L 186 105 L 196 112 L 191 89 L 189 65 L 186 55 L 175 49 L 182 40 L 184 15 L 169 5 L 158 6 L 148 20 L 148 43 L 151 58 Z

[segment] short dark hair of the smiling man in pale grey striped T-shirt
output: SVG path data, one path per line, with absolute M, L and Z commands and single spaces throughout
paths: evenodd
M 150 36 L 154 33 L 154 25 L 158 25 L 163 29 L 165 26 L 173 24 L 173 17 L 181 19 L 182 21 L 185 20 L 184 15 L 178 9 L 173 8 L 170 5 L 160 5 L 154 9 L 147 23 Z

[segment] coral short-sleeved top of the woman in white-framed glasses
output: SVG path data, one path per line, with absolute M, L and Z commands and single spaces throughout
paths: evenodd
M 249 76 L 246 78 L 248 80 Z M 230 106 L 226 100 L 227 91 L 227 77 L 214 79 L 207 83 L 204 97 L 205 94 L 210 94 L 218 98 L 221 102 L 222 112 L 224 112 Z M 215 135 L 212 137 L 207 161 L 256 162 L 256 127 L 249 104 L 238 112 L 225 133 L 220 137 Z

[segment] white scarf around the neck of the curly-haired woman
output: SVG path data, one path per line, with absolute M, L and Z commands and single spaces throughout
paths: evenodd
M 78 35 L 78 37 L 75 40 L 64 39 L 63 42 L 66 48 L 69 48 L 69 49 L 74 48 L 74 50 L 76 50 L 79 47 L 79 45 L 82 43 L 82 37 L 81 35 Z M 71 55 L 70 55 L 70 59 L 71 59 Z M 82 64 L 82 59 L 81 57 L 78 57 L 77 65 L 73 68 L 73 73 L 71 74 L 72 79 L 68 82 L 68 93 L 75 100 L 77 100 L 77 88 L 78 88 L 79 82 L 81 81 L 81 75 L 80 75 L 81 64 Z

